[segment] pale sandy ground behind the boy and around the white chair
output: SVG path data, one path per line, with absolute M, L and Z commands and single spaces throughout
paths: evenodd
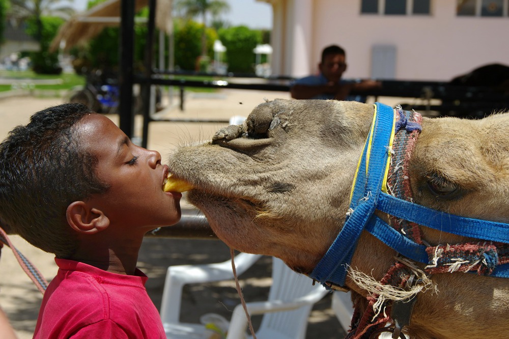
M 251 109 L 265 99 L 288 99 L 288 93 L 223 90 L 215 94 L 189 94 L 185 110 L 177 104 L 158 113 L 158 117 L 185 119 L 229 119 L 234 115 L 246 117 Z M 29 121 L 30 115 L 43 108 L 60 104 L 59 98 L 14 97 L 0 99 L 0 138 L 18 124 Z M 390 104 L 390 103 L 389 103 Z M 118 122 L 118 117 L 111 116 Z M 140 121 L 137 122 L 139 136 Z M 149 126 L 148 148 L 166 155 L 181 143 L 209 139 L 220 127 L 219 123 L 168 123 L 153 122 Z M 189 207 L 184 203 L 184 207 Z M 56 273 L 53 255 L 12 236 L 16 247 L 29 258 L 41 273 L 50 280 Z M 154 304 L 159 308 L 166 268 L 169 265 L 203 264 L 229 260 L 228 247 L 219 240 L 182 240 L 168 238 L 146 238 L 140 251 L 138 266 L 149 276 L 147 289 Z M 260 301 L 267 297 L 271 284 L 271 259 L 264 257 L 240 277 L 246 301 Z M 0 260 L 0 305 L 7 313 L 19 338 L 31 338 L 41 303 L 42 295 L 17 264 L 9 248 L 4 247 Z M 199 322 L 199 317 L 213 312 L 229 319 L 239 297 L 234 281 L 214 284 L 191 285 L 184 289 L 181 320 Z M 256 327 L 260 319 L 254 318 Z M 330 295 L 318 302 L 309 318 L 307 338 L 338 338 L 344 332 L 330 308 Z

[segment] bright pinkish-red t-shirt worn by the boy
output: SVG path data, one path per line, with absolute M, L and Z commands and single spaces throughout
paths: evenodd
M 34 338 L 166 338 L 142 271 L 124 275 L 55 262 L 59 271 L 44 293 Z

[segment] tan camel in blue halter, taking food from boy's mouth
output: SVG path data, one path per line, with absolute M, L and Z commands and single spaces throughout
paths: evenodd
M 243 125 L 222 128 L 210 142 L 179 147 L 169 157 L 169 170 L 193 186 L 187 192 L 188 201 L 203 211 L 215 234 L 227 245 L 280 258 L 293 270 L 317 279 L 317 267 L 356 214 L 351 196 L 352 201 L 370 198 L 371 191 L 367 197 L 362 195 L 365 192 L 359 195 L 352 192 L 352 185 L 364 185 L 359 178 L 364 165 L 358 164 L 366 137 L 372 133 L 376 107 L 381 110 L 384 106 L 333 100 L 265 102 L 252 110 Z M 392 112 L 392 108 L 390 112 L 400 115 L 395 125 L 409 114 L 398 109 Z M 420 128 L 415 132 L 416 128 L 408 128 L 412 124 Z M 482 120 L 422 118 L 409 122 L 403 134 L 419 135 L 413 139 L 412 152 L 402 153 L 405 161 L 390 160 L 386 195 L 395 194 L 398 184 L 394 180 L 398 178 L 392 178 L 391 173 L 401 170 L 411 194 L 401 199 L 435 213 L 423 219 L 445 216 L 441 220 L 453 220 L 454 226 L 456 215 L 470 221 L 491 220 L 504 230 L 504 223 L 509 222 L 508 131 L 509 114 L 502 113 Z M 383 148 L 395 158 L 395 144 Z M 418 217 L 420 210 L 415 214 Z M 419 231 L 410 239 L 419 250 L 427 248 L 429 262 L 398 256 L 399 250 L 366 229 L 359 231 L 358 238 L 347 244 L 352 256 L 343 266 L 343 280 L 336 284 L 317 279 L 329 288 L 352 291 L 356 305 L 352 324 L 358 327 L 353 326 L 348 337 L 369 337 L 383 330 L 393 320 L 391 306 L 404 314 L 395 312 L 394 318 L 410 318 L 396 324 L 397 329 L 391 330 L 394 337 L 403 326 L 403 333 L 412 338 L 509 336 L 509 279 L 490 276 L 496 270 L 488 267 L 490 260 L 487 263 L 483 259 L 492 258 L 486 254 L 489 250 L 483 249 L 476 262 L 449 258 L 451 261 L 439 265 L 444 260 L 442 253 L 454 252 L 455 248 L 492 245 L 501 248 L 495 252 L 498 264 L 503 264 L 507 262 L 505 244 L 490 241 L 490 236 L 484 240 L 471 236 L 484 226 L 469 227 L 473 233 L 467 235 L 461 229 L 453 234 L 440 229 L 441 223 L 438 228 L 419 227 L 416 221 L 391 217 L 379 207 L 374 215 L 397 225 L 395 236 Z M 506 234 L 501 232 L 502 240 Z M 411 278 L 403 276 L 395 288 L 400 299 L 391 294 L 394 291 L 389 283 L 381 282 L 395 266 L 413 274 Z M 418 283 L 412 284 L 412 280 Z M 377 300 L 381 300 L 378 310 L 373 307 Z M 412 300 L 413 310 L 408 300 Z

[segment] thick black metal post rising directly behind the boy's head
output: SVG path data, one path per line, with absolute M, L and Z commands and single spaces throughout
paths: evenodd
M 120 129 L 131 138 L 134 134 L 132 109 L 132 84 L 134 60 L 134 1 L 122 0 L 120 4 L 120 71 L 119 116 Z

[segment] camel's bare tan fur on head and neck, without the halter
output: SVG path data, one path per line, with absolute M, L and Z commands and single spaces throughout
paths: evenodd
M 262 103 L 243 125 L 219 130 L 211 142 L 178 149 L 169 159 L 169 170 L 192 184 L 188 201 L 203 211 L 230 247 L 281 258 L 294 270 L 310 274 L 344 227 L 373 115 L 374 105 L 357 102 Z M 454 215 L 509 222 L 509 115 L 423 118 L 421 126 L 405 163 L 412 201 Z M 377 214 L 387 220 L 384 213 Z M 478 241 L 436 229 L 421 232 L 429 246 Z M 351 266 L 379 280 L 395 254 L 364 231 Z M 479 317 L 492 322 L 490 312 L 509 311 L 509 297 L 493 297 L 509 293 L 508 279 L 463 273 L 432 278 L 441 298 L 447 299 L 419 295 L 412 320 L 421 319 L 413 322 L 413 333 L 425 333 L 420 337 L 461 337 L 464 322 L 480 323 Z M 464 284 L 484 284 L 489 297 L 472 287 L 468 293 L 474 303 L 466 302 Z M 367 295 L 350 278 L 346 285 Z M 450 303 L 450 319 L 428 312 L 444 303 Z M 466 314 L 459 303 L 469 309 Z M 469 307 L 487 313 L 479 315 Z M 430 321 L 438 330 L 427 328 Z M 475 333 L 468 330 L 465 335 Z

